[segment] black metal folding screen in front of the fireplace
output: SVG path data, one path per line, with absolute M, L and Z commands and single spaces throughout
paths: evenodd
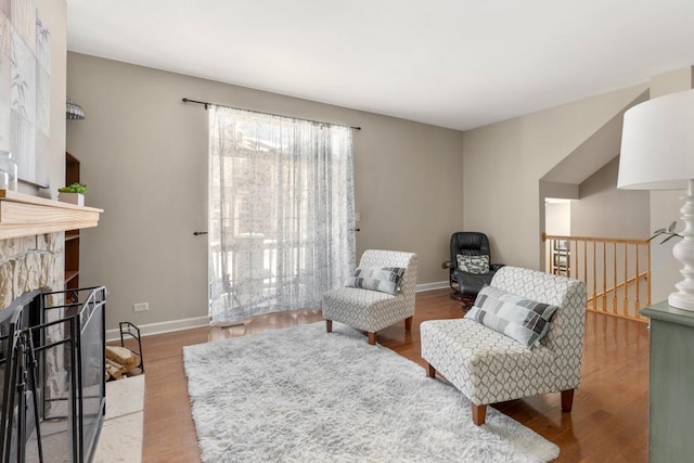
M 105 413 L 103 286 L 35 291 L 0 316 L 0 463 L 90 462 Z

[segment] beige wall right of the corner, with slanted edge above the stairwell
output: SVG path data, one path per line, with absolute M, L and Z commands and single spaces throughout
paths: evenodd
M 463 219 L 467 230 L 489 234 L 492 260 L 542 268 L 540 179 L 645 88 L 629 87 L 464 133 Z

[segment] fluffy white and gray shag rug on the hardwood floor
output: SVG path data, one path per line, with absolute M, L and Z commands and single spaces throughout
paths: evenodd
M 548 462 L 558 448 L 334 323 L 188 346 L 202 461 Z

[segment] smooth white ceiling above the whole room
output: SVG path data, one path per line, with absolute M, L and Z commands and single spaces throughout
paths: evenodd
M 68 0 L 67 49 L 465 130 L 694 64 L 694 0 Z

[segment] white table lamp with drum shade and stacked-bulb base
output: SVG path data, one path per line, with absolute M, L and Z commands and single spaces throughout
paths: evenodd
M 668 297 L 674 308 L 694 311 L 694 90 L 670 93 L 625 113 L 617 188 L 687 190 L 680 209 L 684 230 L 672 254 L 684 278 Z

